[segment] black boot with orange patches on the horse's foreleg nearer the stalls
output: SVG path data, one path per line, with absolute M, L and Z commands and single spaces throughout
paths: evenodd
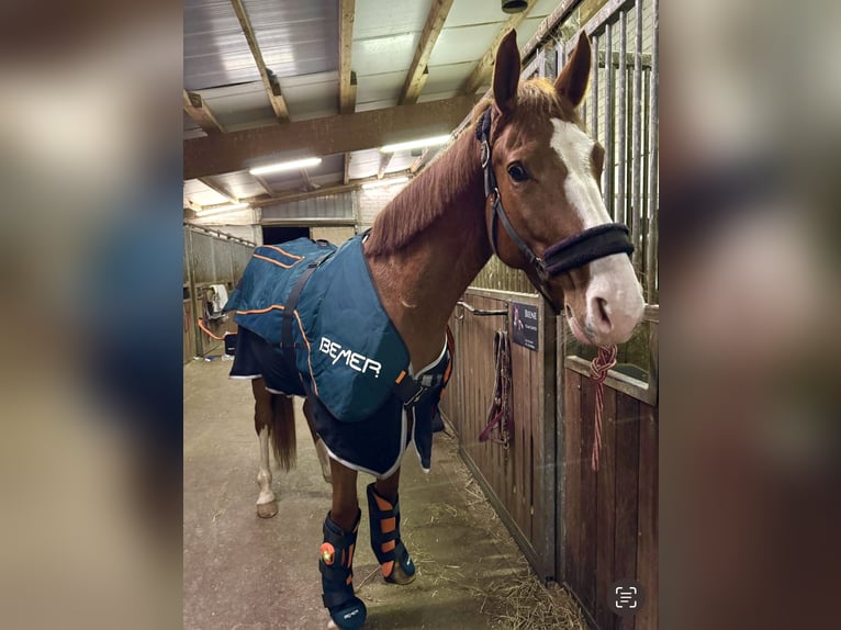
M 368 485 L 368 514 L 371 519 L 371 549 L 385 582 L 408 584 L 415 578 L 415 564 L 400 539 L 400 499 L 392 503 Z

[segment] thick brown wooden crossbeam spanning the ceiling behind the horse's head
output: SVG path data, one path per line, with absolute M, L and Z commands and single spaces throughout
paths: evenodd
M 448 133 L 478 98 L 456 97 L 414 105 L 338 114 L 184 140 L 184 179 L 245 170 L 273 160 L 328 156 Z

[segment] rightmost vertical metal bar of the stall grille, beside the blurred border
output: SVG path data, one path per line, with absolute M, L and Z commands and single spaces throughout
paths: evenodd
M 658 70 L 659 45 L 658 35 L 660 32 L 660 0 L 653 0 L 652 22 L 653 30 L 651 34 L 651 88 L 649 90 L 649 113 L 651 120 L 648 127 L 649 145 L 649 167 L 648 167 L 648 244 L 646 247 L 646 295 L 649 302 L 654 300 L 655 285 L 655 266 L 657 266 L 657 215 L 659 205 L 659 184 L 658 184 L 658 93 L 660 91 Z

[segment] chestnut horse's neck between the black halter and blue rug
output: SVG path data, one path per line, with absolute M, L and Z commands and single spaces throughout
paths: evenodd
M 429 191 L 417 182 L 390 204 L 390 212 L 406 217 L 418 204 L 433 204 L 435 221 L 394 252 L 369 258 L 383 306 L 408 346 L 415 369 L 438 357 L 456 303 L 491 256 L 482 171 L 470 139 L 462 137 L 450 149 L 452 155 L 428 167 L 428 181 L 444 179 L 433 169 L 466 169 L 463 177 L 447 178 L 461 182 L 456 190 Z

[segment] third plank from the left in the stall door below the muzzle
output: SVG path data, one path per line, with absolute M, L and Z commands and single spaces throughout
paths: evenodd
M 603 630 L 613 628 L 615 615 L 608 607 L 614 571 L 614 535 L 616 530 L 616 390 L 604 387 L 602 409 L 602 451 L 597 475 L 596 537 L 596 607 L 594 616 Z

